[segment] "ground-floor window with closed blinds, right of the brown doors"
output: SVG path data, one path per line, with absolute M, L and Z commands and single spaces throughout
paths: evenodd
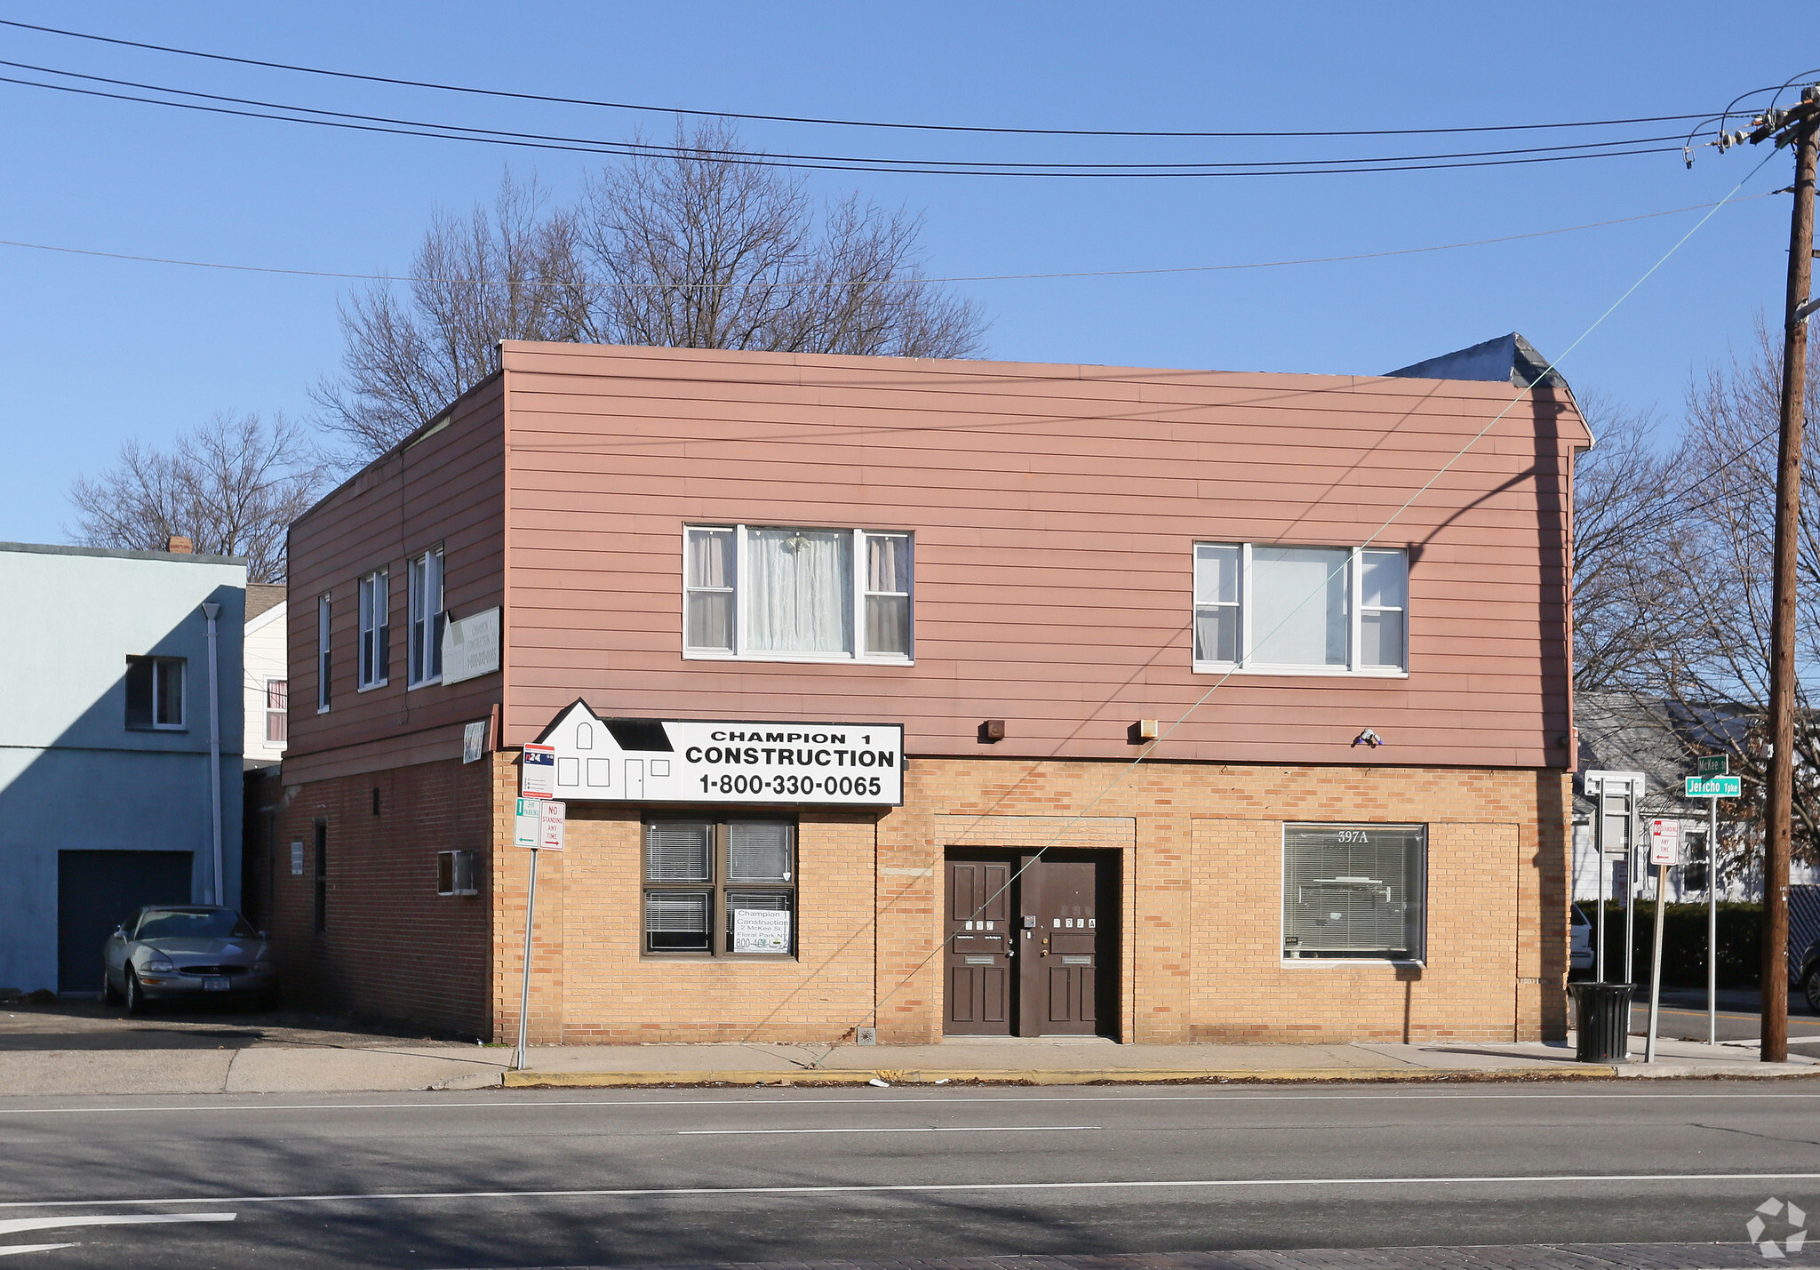
M 1285 824 L 1283 957 L 1421 961 L 1427 826 Z

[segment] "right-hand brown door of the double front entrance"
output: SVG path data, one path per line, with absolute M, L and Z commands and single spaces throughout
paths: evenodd
M 1092 861 L 1026 861 L 1021 882 L 1019 1035 L 1092 1035 L 1099 1030 L 1099 866 Z

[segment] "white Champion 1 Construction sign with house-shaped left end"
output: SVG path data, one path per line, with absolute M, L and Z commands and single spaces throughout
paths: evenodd
M 905 801 L 901 724 L 602 719 L 577 701 L 537 741 L 524 746 L 522 791 L 533 797 L 744 806 Z M 546 795 L 531 782 L 533 751 L 548 753 Z M 539 768 L 544 762 L 537 759 Z

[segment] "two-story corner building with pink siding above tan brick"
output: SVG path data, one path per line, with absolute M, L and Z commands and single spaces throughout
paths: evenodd
M 530 788 L 533 1041 L 1562 1035 L 1591 438 L 1525 349 L 504 344 L 291 531 L 288 990 L 513 1033 Z

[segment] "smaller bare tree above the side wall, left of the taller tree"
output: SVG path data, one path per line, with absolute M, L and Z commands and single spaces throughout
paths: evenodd
M 340 307 L 342 377 L 317 384 L 324 426 L 360 462 L 428 424 L 499 369 L 499 340 L 573 340 L 571 218 L 508 173 L 491 209 L 435 213 L 406 298 L 375 284 Z

